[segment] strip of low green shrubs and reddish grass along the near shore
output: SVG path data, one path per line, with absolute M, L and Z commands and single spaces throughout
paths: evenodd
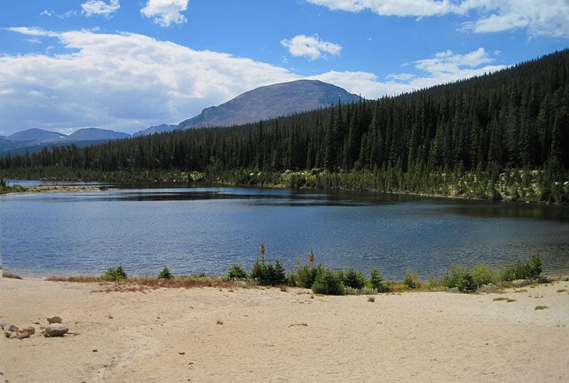
M 220 277 L 197 274 L 193 276 L 175 276 L 168 266 L 158 274 L 151 276 L 127 276 L 122 266 L 111 267 L 99 278 L 71 277 L 48 278 L 49 280 L 65 280 L 68 282 L 114 282 L 106 285 L 109 291 L 142 291 L 160 287 L 301 287 L 312 289 L 315 294 L 322 295 L 372 295 L 377 293 L 394 293 L 402 291 L 455 291 L 460 293 L 479 293 L 499 291 L 507 287 L 520 287 L 532 283 L 551 282 L 552 279 L 542 276 L 542 260 L 539 254 L 531 257 L 526 263 L 517 261 L 501 267 L 491 267 L 479 263 L 468 268 L 464 265 L 451 265 L 440 279 L 422 280 L 417 272 L 407 269 L 402 281 L 385 280 L 379 268 L 370 270 L 368 276 L 353 267 L 348 269 L 331 269 L 316 264 L 316 256 L 311 250 L 305 263 L 296 260 L 296 266 L 286 272 L 282 263 L 275 259 L 266 261 L 266 248 L 262 243 L 260 256 L 248 272 L 239 263 L 229 267 L 227 273 Z M 4 274 L 5 278 L 19 278 L 12 274 Z

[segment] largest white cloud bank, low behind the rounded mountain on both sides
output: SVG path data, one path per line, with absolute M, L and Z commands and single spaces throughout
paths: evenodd
M 53 38 L 58 55 L 0 55 L 2 131 L 100 127 L 134 133 L 178 123 L 262 85 L 303 78 L 280 66 L 195 51 L 140 34 L 9 30 L 27 38 Z M 482 48 L 442 51 L 384 79 L 357 71 L 330 71 L 312 78 L 372 99 L 503 68 L 492 62 L 492 55 Z

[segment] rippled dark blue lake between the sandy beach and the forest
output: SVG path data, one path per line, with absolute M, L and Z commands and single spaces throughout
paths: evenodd
M 0 196 L 1 261 L 21 276 L 225 274 L 259 256 L 401 280 L 455 263 L 500 265 L 540 254 L 569 274 L 569 208 L 244 187 L 138 187 Z

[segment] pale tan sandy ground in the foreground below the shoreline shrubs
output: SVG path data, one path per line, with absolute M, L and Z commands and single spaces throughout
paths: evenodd
M 369 302 L 0 278 L 4 326 L 38 329 L 1 337 L 0 382 L 569 382 L 568 286 Z M 45 338 L 32 324 L 53 315 L 71 334 Z

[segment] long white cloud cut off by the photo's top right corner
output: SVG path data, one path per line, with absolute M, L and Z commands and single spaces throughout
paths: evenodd
M 307 0 L 330 10 L 380 16 L 440 16 L 459 14 L 461 31 L 489 33 L 524 29 L 533 36 L 569 37 L 567 0 Z

